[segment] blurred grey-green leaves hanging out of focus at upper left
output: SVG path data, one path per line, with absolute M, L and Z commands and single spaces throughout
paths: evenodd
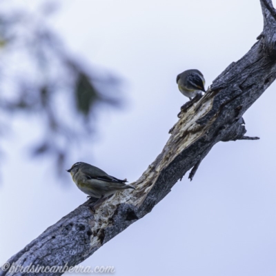
M 45 18 L 54 10 L 52 3 L 29 12 L 0 2 L 0 113 L 41 121 L 32 154 L 50 156 L 60 172 L 81 139 L 92 135 L 97 106 L 118 106 L 121 99 L 117 78 L 81 64 L 48 28 Z M 0 131 L 5 127 L 0 121 Z

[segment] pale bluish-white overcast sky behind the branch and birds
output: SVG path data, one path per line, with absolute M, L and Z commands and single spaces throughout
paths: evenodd
M 18 1 L 27 3 L 34 9 L 33 1 Z M 75 161 L 130 182 L 161 152 L 187 101 L 177 74 L 197 68 L 210 86 L 263 27 L 257 0 L 63 0 L 48 23 L 76 57 L 124 80 L 124 108 L 103 110 L 97 137 L 86 145 L 92 156 L 83 150 Z M 259 141 L 217 144 L 192 182 L 186 175 L 83 265 L 115 266 L 119 276 L 275 276 L 275 90 L 244 115 L 247 135 Z M 12 121 L 5 141 L 1 264 L 86 200 L 69 174 L 64 185 L 47 160 L 28 158 L 23 146 L 39 126 L 24 120 Z

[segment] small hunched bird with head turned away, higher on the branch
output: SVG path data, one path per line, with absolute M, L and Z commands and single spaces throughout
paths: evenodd
M 197 69 L 190 69 L 181 72 L 177 76 L 177 84 L 179 91 L 190 100 L 195 97 L 200 91 L 205 92 L 205 79 L 202 73 Z

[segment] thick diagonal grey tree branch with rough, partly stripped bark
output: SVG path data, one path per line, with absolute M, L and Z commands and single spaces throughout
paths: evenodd
M 242 115 L 276 77 L 276 11 L 270 0 L 261 0 L 261 6 L 264 30 L 257 43 L 242 59 L 231 63 L 203 97 L 182 108 L 161 154 L 132 183 L 136 190 L 117 193 L 96 213 L 88 206 L 79 206 L 8 262 L 21 266 L 75 266 L 149 213 L 190 168 L 192 180 L 202 159 L 217 142 L 258 139 L 244 136 Z M 19 273 L 0 270 L 1 276 L 15 274 Z

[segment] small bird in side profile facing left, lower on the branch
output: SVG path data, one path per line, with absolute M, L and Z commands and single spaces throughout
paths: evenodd
M 135 187 L 126 184 L 127 180 L 117 179 L 106 172 L 88 163 L 77 162 L 69 170 L 73 181 L 83 193 L 90 199 L 97 198 L 95 204 L 89 206 L 95 210 L 95 206 L 103 202 L 107 197 L 118 190 L 134 189 Z

